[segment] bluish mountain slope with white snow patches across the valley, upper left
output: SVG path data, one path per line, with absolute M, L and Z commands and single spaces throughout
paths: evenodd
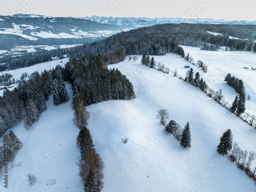
M 122 31 L 114 25 L 86 19 L 35 14 L 0 16 L 0 50 L 16 46 L 78 45 Z

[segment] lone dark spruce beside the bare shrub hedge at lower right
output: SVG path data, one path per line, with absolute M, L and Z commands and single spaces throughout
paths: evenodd
M 220 144 L 217 146 L 217 152 L 221 155 L 227 155 L 227 152 L 232 149 L 232 139 L 232 132 L 228 129 L 220 138 Z

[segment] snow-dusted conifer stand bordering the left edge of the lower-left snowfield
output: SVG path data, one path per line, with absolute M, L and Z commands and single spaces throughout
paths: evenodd
M 28 80 L 18 80 L 18 86 L 13 91 L 4 91 L 3 97 L 0 96 L 0 136 L 24 118 L 26 128 L 30 129 L 40 113 L 47 110 L 46 101 L 54 92 L 55 79 L 58 79 L 56 91 L 60 92 L 62 99 L 59 103 L 67 101 L 67 89 L 63 78 L 60 78 L 61 71 L 64 73 L 65 69 L 56 66 L 55 69 L 45 70 L 41 75 L 34 72 Z

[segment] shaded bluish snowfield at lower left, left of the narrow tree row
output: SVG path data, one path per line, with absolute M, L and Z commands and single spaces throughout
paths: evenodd
M 72 98 L 71 84 L 67 84 L 67 89 Z M 41 114 L 31 130 L 25 130 L 23 121 L 13 127 L 23 142 L 14 164 L 23 164 L 9 170 L 9 188 L 1 182 L 1 191 L 82 191 L 76 164 L 80 159 L 76 148 L 79 130 L 73 124 L 70 105 L 71 99 L 55 106 L 51 96 L 47 101 L 48 110 Z M 32 187 L 27 184 L 27 173 L 37 177 Z

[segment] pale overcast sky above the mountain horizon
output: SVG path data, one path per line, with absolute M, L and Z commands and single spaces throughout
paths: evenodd
M 256 20 L 255 0 L 0 0 L 0 15 L 182 17 Z

